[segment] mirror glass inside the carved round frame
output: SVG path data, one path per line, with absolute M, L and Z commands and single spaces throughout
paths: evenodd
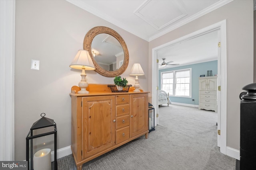
M 124 63 L 124 51 L 112 35 L 101 33 L 92 40 L 92 55 L 100 67 L 108 71 L 118 70 Z

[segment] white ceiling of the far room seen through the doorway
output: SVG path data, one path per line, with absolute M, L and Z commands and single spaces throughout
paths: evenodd
M 166 63 L 173 61 L 171 64 L 178 66 L 218 60 L 218 31 L 165 47 L 157 51 L 157 58 L 159 64 L 166 58 Z M 159 69 L 169 67 L 175 66 L 159 66 Z

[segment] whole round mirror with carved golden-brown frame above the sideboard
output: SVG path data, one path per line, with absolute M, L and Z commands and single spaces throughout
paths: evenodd
M 102 76 L 119 76 L 128 66 L 126 43 L 111 28 L 98 26 L 90 29 L 84 37 L 84 49 L 89 51 L 96 72 Z

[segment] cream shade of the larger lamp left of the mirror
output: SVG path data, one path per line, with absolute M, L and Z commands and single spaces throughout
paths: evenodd
M 78 70 L 95 70 L 89 52 L 86 50 L 78 50 L 76 57 L 69 66 Z

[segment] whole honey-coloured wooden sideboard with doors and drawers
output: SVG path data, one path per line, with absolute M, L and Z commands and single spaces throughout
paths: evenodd
M 133 139 L 148 138 L 148 92 L 111 92 L 104 84 L 89 84 L 86 90 L 90 93 L 70 93 L 77 170 Z

